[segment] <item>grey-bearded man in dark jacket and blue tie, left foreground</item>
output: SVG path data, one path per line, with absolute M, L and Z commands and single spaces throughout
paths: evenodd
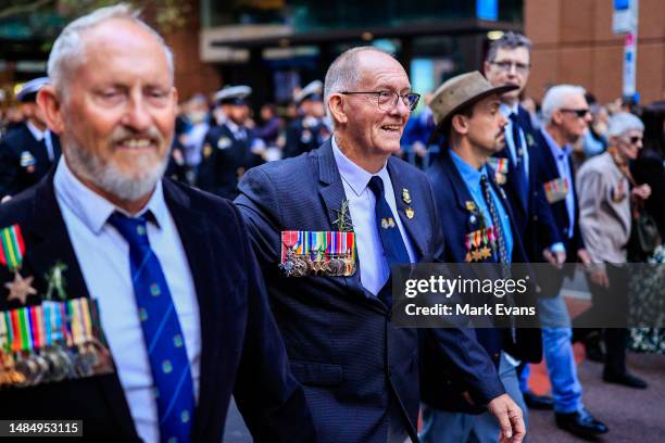
M 63 157 L 0 206 L 0 227 L 22 232 L 26 276 L 0 270 L 0 308 L 53 303 L 53 287 L 95 301 L 115 370 L 83 377 L 67 364 L 81 355 L 66 353 L 33 362 L 36 385 L 1 391 L 3 418 L 83 420 L 92 441 L 219 442 L 233 392 L 256 441 L 314 441 L 240 215 L 162 178 L 177 103 L 162 38 L 129 7 L 104 8 L 63 29 L 48 66 L 38 103 Z M 68 375 L 37 381 L 55 369 Z

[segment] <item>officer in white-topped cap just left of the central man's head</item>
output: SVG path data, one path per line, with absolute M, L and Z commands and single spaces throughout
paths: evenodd
M 321 80 L 314 80 L 296 94 L 300 117 L 287 128 L 285 159 L 310 152 L 330 137 L 322 92 L 323 84 Z

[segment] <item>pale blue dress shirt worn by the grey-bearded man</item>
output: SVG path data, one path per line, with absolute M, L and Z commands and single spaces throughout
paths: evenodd
M 120 232 L 106 223 L 114 211 L 123 211 L 80 182 L 67 167 L 64 156 L 58 164 L 54 187 L 88 292 L 99 302 L 101 326 L 136 430 L 143 441 L 158 442 L 158 409 L 131 284 L 129 246 Z M 185 250 L 164 201 L 161 182 L 141 214 L 148 211 L 156 220 L 156 225 L 148 223 L 148 239 L 162 265 L 185 336 L 195 397 L 198 400 L 201 360 L 199 304 Z

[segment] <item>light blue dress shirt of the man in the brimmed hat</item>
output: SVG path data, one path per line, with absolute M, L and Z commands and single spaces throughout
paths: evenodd
M 452 150 L 450 150 L 450 156 L 455 164 L 455 167 L 460 172 L 468 192 L 472 194 L 474 202 L 476 202 L 476 206 L 480 211 L 482 218 L 485 218 L 486 226 L 492 226 L 492 214 L 487 206 L 487 202 L 485 201 L 485 195 L 482 193 L 482 187 L 480 185 L 480 177 L 487 177 L 487 165 L 482 166 L 480 170 L 476 169 L 468 163 L 466 163 L 460 155 L 455 154 Z M 505 252 L 507 255 L 507 261 L 511 263 L 513 257 L 513 231 L 511 230 L 511 219 L 503 207 L 503 203 L 499 195 L 494 192 L 494 189 L 490 187 L 490 195 L 494 202 L 494 207 L 497 208 L 497 214 L 499 216 L 499 223 L 501 224 L 501 232 L 503 233 L 503 239 L 505 240 Z M 495 257 L 499 261 L 499 257 Z

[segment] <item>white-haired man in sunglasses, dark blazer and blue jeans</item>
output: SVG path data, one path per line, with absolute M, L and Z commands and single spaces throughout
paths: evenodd
M 536 134 L 540 149 L 531 151 L 538 156 L 538 178 L 560 230 L 566 262 L 589 264 L 591 261 L 579 229 L 570 159 L 570 144 L 582 137 L 590 121 L 585 89 L 572 85 L 552 87 L 542 101 L 542 113 L 544 125 Z M 539 248 L 549 246 L 549 239 L 539 238 Z M 573 267 L 568 269 L 573 270 Z M 564 277 L 565 274 L 561 273 L 554 281 L 542 281 L 543 293 L 539 300 L 542 347 L 552 383 L 554 414 L 560 428 L 582 438 L 593 438 L 606 433 L 607 427 L 597 420 L 581 402 L 582 388 L 570 343 L 570 317 L 561 294 Z M 524 370 L 522 377 L 527 374 L 528 370 Z

